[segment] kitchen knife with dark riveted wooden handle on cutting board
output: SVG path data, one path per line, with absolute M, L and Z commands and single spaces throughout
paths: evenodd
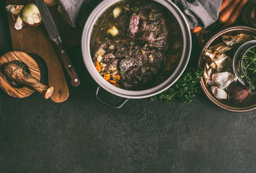
M 61 61 L 63 63 L 63 66 L 71 78 L 70 84 L 73 86 L 79 86 L 79 77 L 77 76 L 74 66 L 69 59 L 69 56 L 66 52 L 66 48 L 64 47 L 61 41 L 61 37 L 58 33 L 55 23 L 53 22 L 53 18 L 50 16 L 50 12 L 45 4 L 45 1 L 35 0 L 35 3 L 37 4 L 41 17 L 43 19 L 43 23 L 45 24 L 46 30 L 50 36 L 50 39 L 53 40 L 53 42 L 55 42 L 58 46 L 58 51 L 61 55 Z

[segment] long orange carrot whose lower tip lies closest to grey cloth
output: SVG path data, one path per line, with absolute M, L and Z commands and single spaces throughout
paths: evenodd
M 219 14 L 219 21 L 221 23 L 226 23 L 228 21 L 231 14 L 234 12 L 234 9 L 236 9 L 237 5 L 239 4 L 241 0 L 234 0 L 231 2 L 229 6 L 226 7 L 220 14 Z

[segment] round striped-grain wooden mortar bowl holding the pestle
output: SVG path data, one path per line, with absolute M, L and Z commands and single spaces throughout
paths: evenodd
M 27 55 L 27 53 L 12 51 L 4 54 L 4 56 L 1 56 L 0 58 L 0 68 L 2 68 L 4 64 L 12 61 L 22 61 L 23 63 L 25 63 L 30 69 L 31 76 L 37 79 L 37 81 L 40 81 L 40 69 L 35 60 Z M 4 90 L 4 92 L 6 92 L 6 94 L 17 98 L 28 97 L 34 92 L 34 90 L 28 88 L 27 86 L 23 88 L 15 88 L 11 84 L 9 84 L 2 71 L 0 71 L 0 87 Z

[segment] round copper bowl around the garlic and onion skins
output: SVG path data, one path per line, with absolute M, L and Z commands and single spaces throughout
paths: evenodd
M 216 35 L 211 37 L 211 39 L 206 43 L 202 52 L 200 53 L 199 61 L 198 61 L 198 68 L 202 68 L 204 64 L 203 54 L 206 48 L 209 48 L 211 45 L 215 45 L 216 43 L 221 42 L 221 35 L 238 35 L 238 34 L 248 34 L 248 35 L 255 35 L 256 36 L 256 29 L 252 27 L 229 27 L 225 30 L 221 30 Z M 203 92 L 206 94 L 206 97 L 211 100 L 215 105 L 221 107 L 224 110 L 229 110 L 231 112 L 248 112 L 252 110 L 256 110 L 256 94 L 250 94 L 250 96 L 244 100 L 242 103 L 232 103 L 228 100 L 224 99 L 217 99 L 211 92 L 209 86 L 206 86 L 205 79 L 201 78 L 200 86 L 203 89 Z

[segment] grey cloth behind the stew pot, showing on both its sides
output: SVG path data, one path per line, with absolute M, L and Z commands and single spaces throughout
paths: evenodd
M 60 0 L 74 26 L 84 27 L 92 10 L 102 0 Z M 222 0 L 172 0 L 187 19 L 190 29 L 208 27 L 219 17 Z

